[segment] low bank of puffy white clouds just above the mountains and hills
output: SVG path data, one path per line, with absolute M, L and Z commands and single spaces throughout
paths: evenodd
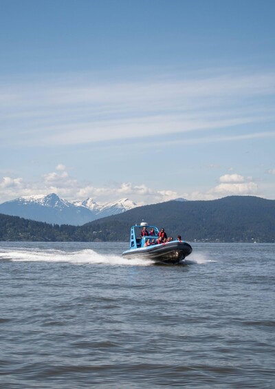
M 63 169 L 44 174 L 41 181 L 36 183 L 25 182 L 23 178 L 10 177 L 3 177 L 0 181 L 1 202 L 20 196 L 52 192 L 67 200 L 83 200 L 91 197 L 103 204 L 127 197 L 137 202 L 137 204 L 143 205 L 164 202 L 179 197 L 188 200 L 214 200 L 215 198 L 232 195 L 256 195 L 259 194 L 259 187 L 252 177 L 245 177 L 240 174 L 221 176 L 219 184 L 205 192 L 177 193 L 173 190 L 153 189 L 145 184 L 136 185 L 133 182 L 111 182 L 103 187 L 96 187 L 70 177 L 68 172 Z

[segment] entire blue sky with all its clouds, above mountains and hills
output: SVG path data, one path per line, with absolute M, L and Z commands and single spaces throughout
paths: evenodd
M 0 203 L 275 199 L 275 1 L 0 0 Z

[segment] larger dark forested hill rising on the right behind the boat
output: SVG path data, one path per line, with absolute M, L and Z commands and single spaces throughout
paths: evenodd
M 209 201 L 169 201 L 131 209 L 85 224 L 83 231 L 102 231 L 111 240 L 129 240 L 129 229 L 140 224 L 164 227 L 169 236 L 187 241 L 274 242 L 275 200 L 229 196 Z M 98 234 L 100 235 L 100 234 Z M 108 239 L 108 238 L 107 238 Z

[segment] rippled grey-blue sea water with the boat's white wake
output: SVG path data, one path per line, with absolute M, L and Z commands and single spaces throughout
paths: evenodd
M 275 244 L 0 243 L 0 388 L 274 388 Z

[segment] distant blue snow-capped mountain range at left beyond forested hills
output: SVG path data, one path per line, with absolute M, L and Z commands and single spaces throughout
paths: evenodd
M 55 193 L 23 196 L 0 204 L 0 213 L 52 224 L 82 225 L 93 220 L 128 211 L 137 205 L 129 199 L 99 205 L 91 198 L 69 202 Z

